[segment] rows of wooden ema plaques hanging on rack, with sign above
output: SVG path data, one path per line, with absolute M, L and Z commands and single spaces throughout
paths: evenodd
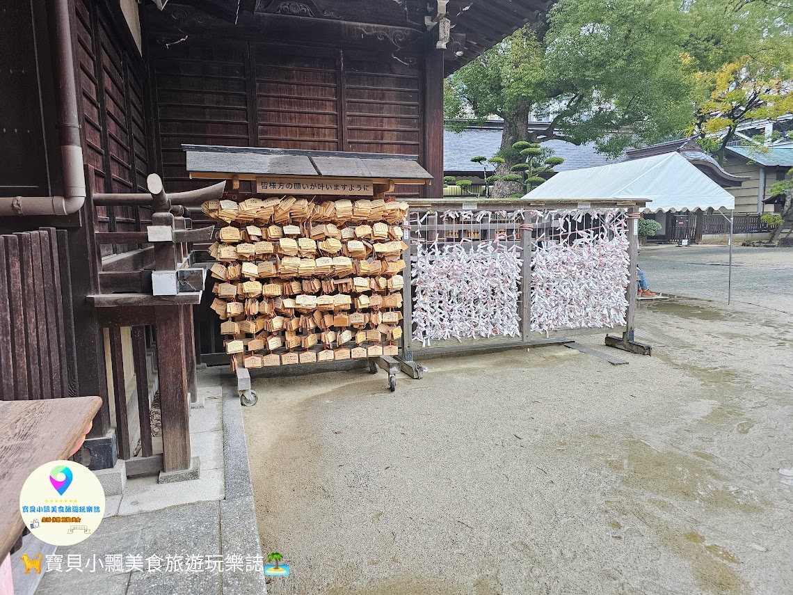
M 407 203 L 356 196 L 372 182 L 258 182 L 277 196 L 202 205 L 221 222 L 209 248 L 220 261 L 212 309 L 232 367 L 396 354 Z

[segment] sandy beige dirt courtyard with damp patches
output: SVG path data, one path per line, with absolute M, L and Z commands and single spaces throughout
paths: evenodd
M 793 593 L 793 317 L 675 298 L 639 307 L 653 357 L 603 334 L 580 343 L 629 365 L 554 346 L 431 359 L 396 393 L 255 378 L 262 551 L 291 573 L 269 592 Z

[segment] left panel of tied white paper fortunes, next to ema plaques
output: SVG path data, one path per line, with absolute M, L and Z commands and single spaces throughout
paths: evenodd
M 413 339 L 426 347 L 431 340 L 517 335 L 522 263 L 517 246 L 497 242 L 475 250 L 418 244 L 412 259 Z

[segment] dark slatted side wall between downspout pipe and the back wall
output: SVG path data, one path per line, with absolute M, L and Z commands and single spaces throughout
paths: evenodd
M 148 140 L 144 74 L 140 56 L 118 41 L 102 2 L 75 0 L 85 161 L 94 167 L 93 187 L 104 192 L 145 191 Z M 97 207 L 96 228 L 138 231 L 151 220 L 150 209 Z M 102 246 L 102 255 L 135 246 Z

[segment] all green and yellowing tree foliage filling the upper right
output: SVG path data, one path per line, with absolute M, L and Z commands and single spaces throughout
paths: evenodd
M 520 141 L 619 155 L 688 132 L 719 152 L 793 111 L 790 17 L 790 0 L 559 0 L 544 37 L 519 29 L 446 79 L 446 117 L 504 119 L 497 198 Z M 550 121 L 530 130 L 529 113 Z

